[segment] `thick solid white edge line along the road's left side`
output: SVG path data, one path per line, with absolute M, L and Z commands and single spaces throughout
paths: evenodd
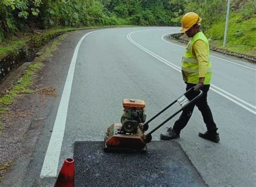
M 97 31 L 102 31 L 102 30 L 97 30 Z M 66 82 L 64 85 L 62 97 L 60 99 L 58 112 L 56 115 L 55 123 L 54 123 L 52 134 L 51 134 L 51 139 L 48 145 L 47 152 L 44 157 L 44 163 L 41 170 L 40 178 L 57 176 L 59 155 L 60 155 L 60 150 L 62 148 L 62 141 L 63 141 L 64 132 L 65 132 L 66 117 L 68 114 L 68 107 L 69 107 L 69 98 L 70 98 L 70 92 L 72 88 L 73 75 L 75 72 L 79 47 L 87 35 L 97 31 L 92 31 L 85 34 L 79 40 L 75 48 L 75 52 L 73 54 L 73 57 L 70 63 L 68 76 L 66 77 Z

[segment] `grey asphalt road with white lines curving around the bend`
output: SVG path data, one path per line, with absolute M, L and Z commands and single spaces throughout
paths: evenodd
M 49 129 L 53 124 L 55 127 L 52 134 L 43 133 L 44 143 L 38 146 L 45 152 L 36 153 L 33 161 L 38 159 L 43 164 L 43 181 L 52 181 L 63 160 L 73 157 L 76 141 L 103 141 L 106 127 L 120 120 L 123 98 L 145 100 L 150 119 L 184 93 L 180 73 L 184 45 L 166 37 L 178 31 L 177 27 L 108 28 L 87 33 L 83 40 L 77 38 L 79 48 L 63 59 L 71 61 L 71 66 L 69 73 L 63 72 L 68 76 L 60 87 L 64 87 L 62 99 L 56 100 L 45 120 Z M 206 128 L 195 109 L 177 142 L 206 184 L 255 186 L 255 64 L 211 55 L 214 73 L 208 104 L 221 141 L 213 143 L 198 137 L 198 132 Z M 174 105 L 166 111 L 150 124 L 149 130 L 178 108 Z M 153 140 L 158 141 L 159 134 L 177 118 L 152 134 Z

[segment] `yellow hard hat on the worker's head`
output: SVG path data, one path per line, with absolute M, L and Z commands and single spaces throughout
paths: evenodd
M 200 23 L 201 18 L 194 12 L 186 13 L 181 19 L 181 28 L 180 32 L 185 32 L 190 29 L 194 24 Z

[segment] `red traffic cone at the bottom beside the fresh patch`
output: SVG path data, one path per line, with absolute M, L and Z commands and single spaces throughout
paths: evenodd
M 55 183 L 55 187 L 73 187 L 75 174 L 75 160 L 65 159 L 62 169 L 59 171 L 58 178 Z

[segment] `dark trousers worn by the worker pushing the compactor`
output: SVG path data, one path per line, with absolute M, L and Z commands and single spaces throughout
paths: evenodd
M 186 83 L 186 84 L 187 84 L 186 90 L 196 85 L 191 83 Z M 195 105 L 198 107 L 198 109 L 203 115 L 204 123 L 206 124 L 207 130 L 210 132 L 216 132 L 218 130 L 218 128 L 216 127 L 216 124 L 213 121 L 211 109 L 207 104 L 207 92 L 209 89 L 210 89 L 210 84 L 204 85 L 202 89 L 203 95 L 195 103 L 185 107 L 179 119 L 174 123 L 174 126 L 173 126 L 174 131 L 176 131 L 177 133 L 180 133 L 180 131 L 187 125 L 188 120 L 190 120 L 190 117 L 193 113 Z M 188 93 L 190 94 L 186 96 L 190 100 L 197 95 L 197 92 L 188 92 Z

